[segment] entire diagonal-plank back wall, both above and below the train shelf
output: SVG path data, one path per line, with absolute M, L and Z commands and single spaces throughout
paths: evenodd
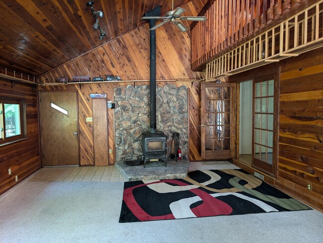
M 184 5 L 187 15 L 197 15 L 203 7 L 201 1 L 189 2 Z M 185 13 L 186 13 L 185 12 Z M 188 25 L 187 25 L 188 27 Z M 193 102 L 190 114 L 189 140 L 195 138 L 190 143 L 190 159 L 200 158 L 200 147 L 198 139 L 200 122 L 199 115 L 199 91 L 196 91 L 196 74 L 190 70 L 190 36 L 189 32 L 182 33 L 172 24 L 165 24 L 156 30 L 157 37 L 157 84 L 163 87 L 167 83 L 176 87 L 186 85 L 189 93 L 189 107 Z M 149 85 L 149 27 L 148 24 L 106 43 L 97 49 L 66 63 L 65 65 L 40 77 L 42 82 L 53 82 L 61 76 L 72 78 L 72 76 L 90 75 L 91 77 L 104 75 L 119 75 L 127 82 L 104 82 L 104 83 L 84 83 L 39 86 L 40 90 L 78 90 L 79 99 L 79 127 L 80 127 L 80 157 L 81 165 L 94 165 L 93 159 L 93 127 L 91 122 L 86 122 L 86 117 L 92 116 L 92 100 L 90 93 L 106 93 L 107 100 L 113 100 L 114 88 L 119 85 Z M 176 81 L 177 80 L 177 81 Z M 129 82 L 128 82 L 129 81 Z M 114 138 L 114 110 L 108 109 L 108 149 L 109 164 L 115 162 L 115 138 Z M 197 158 L 197 159 L 195 159 Z

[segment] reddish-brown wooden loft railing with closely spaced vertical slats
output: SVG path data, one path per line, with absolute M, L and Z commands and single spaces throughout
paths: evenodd
M 207 21 L 191 25 L 191 68 L 198 71 L 215 56 L 300 6 L 304 0 L 210 0 Z

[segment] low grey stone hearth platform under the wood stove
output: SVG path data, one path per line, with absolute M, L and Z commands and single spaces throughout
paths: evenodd
M 129 166 L 123 161 L 116 162 L 114 165 L 127 181 L 135 180 L 160 180 L 160 179 L 179 179 L 187 176 L 189 161 L 188 160 L 169 160 L 167 166 L 164 162 L 147 162 L 139 165 Z

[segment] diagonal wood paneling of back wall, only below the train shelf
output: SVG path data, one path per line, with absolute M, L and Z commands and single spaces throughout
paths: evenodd
M 160 81 L 157 83 L 159 87 L 171 83 L 176 87 L 186 85 L 189 92 L 189 159 L 191 161 L 200 161 L 200 101 L 199 101 L 199 82 L 189 81 Z M 92 98 L 89 98 L 90 93 L 106 93 L 107 100 L 113 101 L 114 88 L 119 85 L 149 85 L 149 82 L 104 82 L 104 83 L 84 83 L 69 84 L 69 85 L 50 85 L 39 86 L 40 90 L 78 90 L 79 93 L 79 134 L 80 134 L 80 158 L 81 165 L 94 165 L 93 151 L 93 124 L 86 122 L 86 117 L 92 117 Z M 192 87 L 191 87 L 192 86 Z M 115 138 L 114 138 L 114 110 L 108 108 L 108 149 L 112 150 L 109 154 L 109 164 L 115 162 Z

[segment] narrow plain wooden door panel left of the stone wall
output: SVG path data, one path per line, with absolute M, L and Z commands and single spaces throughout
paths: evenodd
M 95 166 L 109 165 L 106 99 L 92 99 Z

